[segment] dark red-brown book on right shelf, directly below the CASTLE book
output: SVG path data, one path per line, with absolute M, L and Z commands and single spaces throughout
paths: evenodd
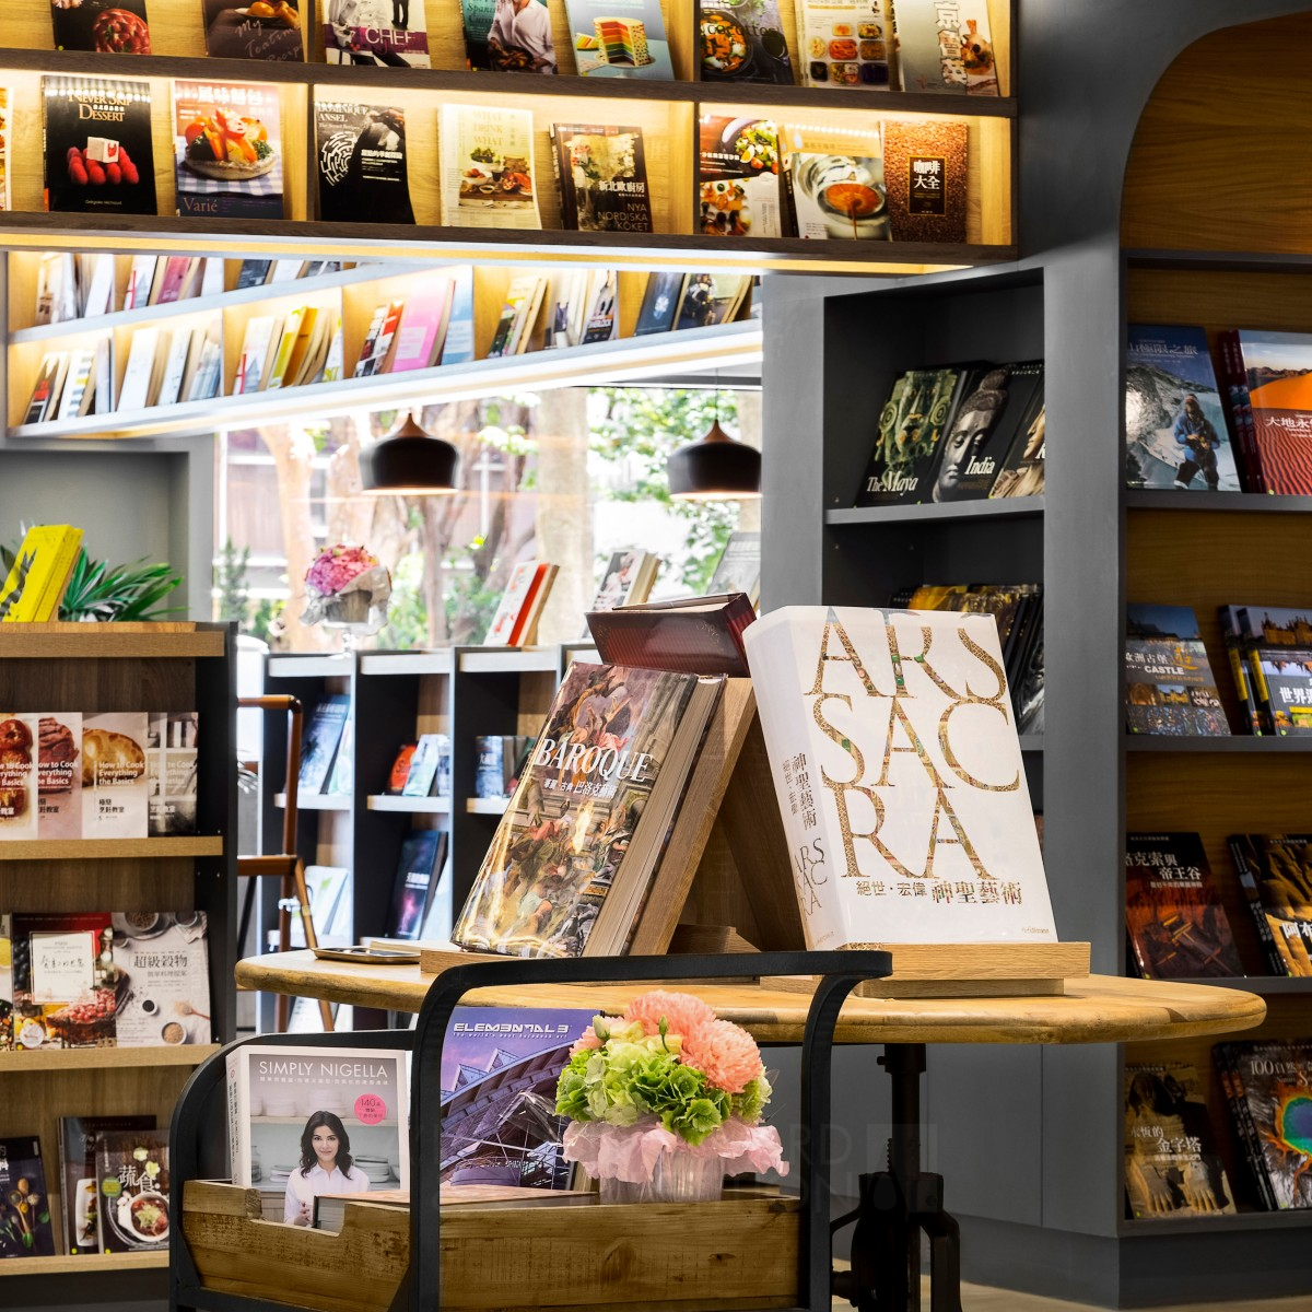
M 1126 834 L 1126 928 L 1140 979 L 1244 974 L 1197 833 Z

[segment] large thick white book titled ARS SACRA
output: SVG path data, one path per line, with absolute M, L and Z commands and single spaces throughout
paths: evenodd
M 992 615 L 787 606 L 743 639 L 810 950 L 1056 939 Z

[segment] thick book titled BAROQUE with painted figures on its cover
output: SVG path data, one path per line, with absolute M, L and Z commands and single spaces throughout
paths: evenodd
M 514 956 L 623 953 L 720 684 L 571 665 L 453 942 Z

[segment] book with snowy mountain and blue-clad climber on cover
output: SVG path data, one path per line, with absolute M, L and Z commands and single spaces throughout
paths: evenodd
M 1237 492 L 1207 333 L 1130 324 L 1126 335 L 1126 487 Z

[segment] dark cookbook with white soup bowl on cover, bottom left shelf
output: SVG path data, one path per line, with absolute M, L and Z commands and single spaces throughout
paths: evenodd
M 168 1131 L 101 1131 L 96 1179 L 100 1250 L 168 1252 Z

